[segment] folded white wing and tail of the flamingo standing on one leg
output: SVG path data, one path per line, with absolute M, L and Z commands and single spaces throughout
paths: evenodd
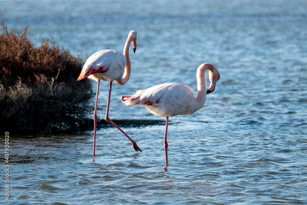
M 188 104 L 194 99 L 193 91 L 187 85 L 164 83 L 145 90 L 138 90 L 131 96 L 122 96 L 127 106 L 141 104 L 157 116 L 187 115 Z

